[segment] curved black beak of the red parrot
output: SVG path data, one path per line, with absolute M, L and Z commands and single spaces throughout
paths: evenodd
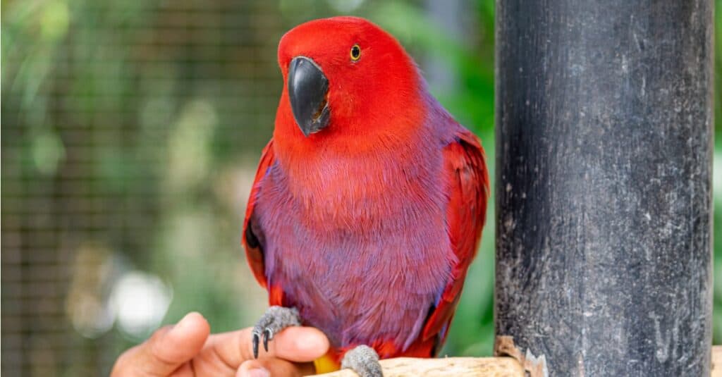
M 329 79 L 310 58 L 298 56 L 288 66 L 288 97 L 298 127 L 305 136 L 329 125 Z

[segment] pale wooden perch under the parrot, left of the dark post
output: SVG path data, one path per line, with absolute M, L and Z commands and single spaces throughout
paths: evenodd
M 396 358 L 381 360 L 381 368 L 384 377 L 524 377 L 523 368 L 513 358 Z M 358 377 L 349 369 L 318 376 Z

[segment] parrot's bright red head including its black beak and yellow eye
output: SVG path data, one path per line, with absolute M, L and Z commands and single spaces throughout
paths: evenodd
M 284 89 L 277 136 L 363 139 L 398 133 L 419 118 L 423 83 L 416 64 L 396 38 L 367 20 L 299 25 L 281 38 L 278 61 Z

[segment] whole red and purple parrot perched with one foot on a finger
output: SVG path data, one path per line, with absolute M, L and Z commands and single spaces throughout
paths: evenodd
M 253 332 L 321 329 L 319 372 L 381 376 L 378 359 L 444 342 L 484 225 L 484 151 L 427 90 L 399 42 L 367 20 L 287 32 L 273 139 L 248 199 L 248 262 L 271 307 Z

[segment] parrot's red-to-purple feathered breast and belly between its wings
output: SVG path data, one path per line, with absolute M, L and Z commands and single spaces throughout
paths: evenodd
M 337 349 L 405 350 L 448 281 L 441 145 L 429 131 L 373 154 L 319 154 L 295 174 L 277 163 L 261 181 L 269 285 Z

